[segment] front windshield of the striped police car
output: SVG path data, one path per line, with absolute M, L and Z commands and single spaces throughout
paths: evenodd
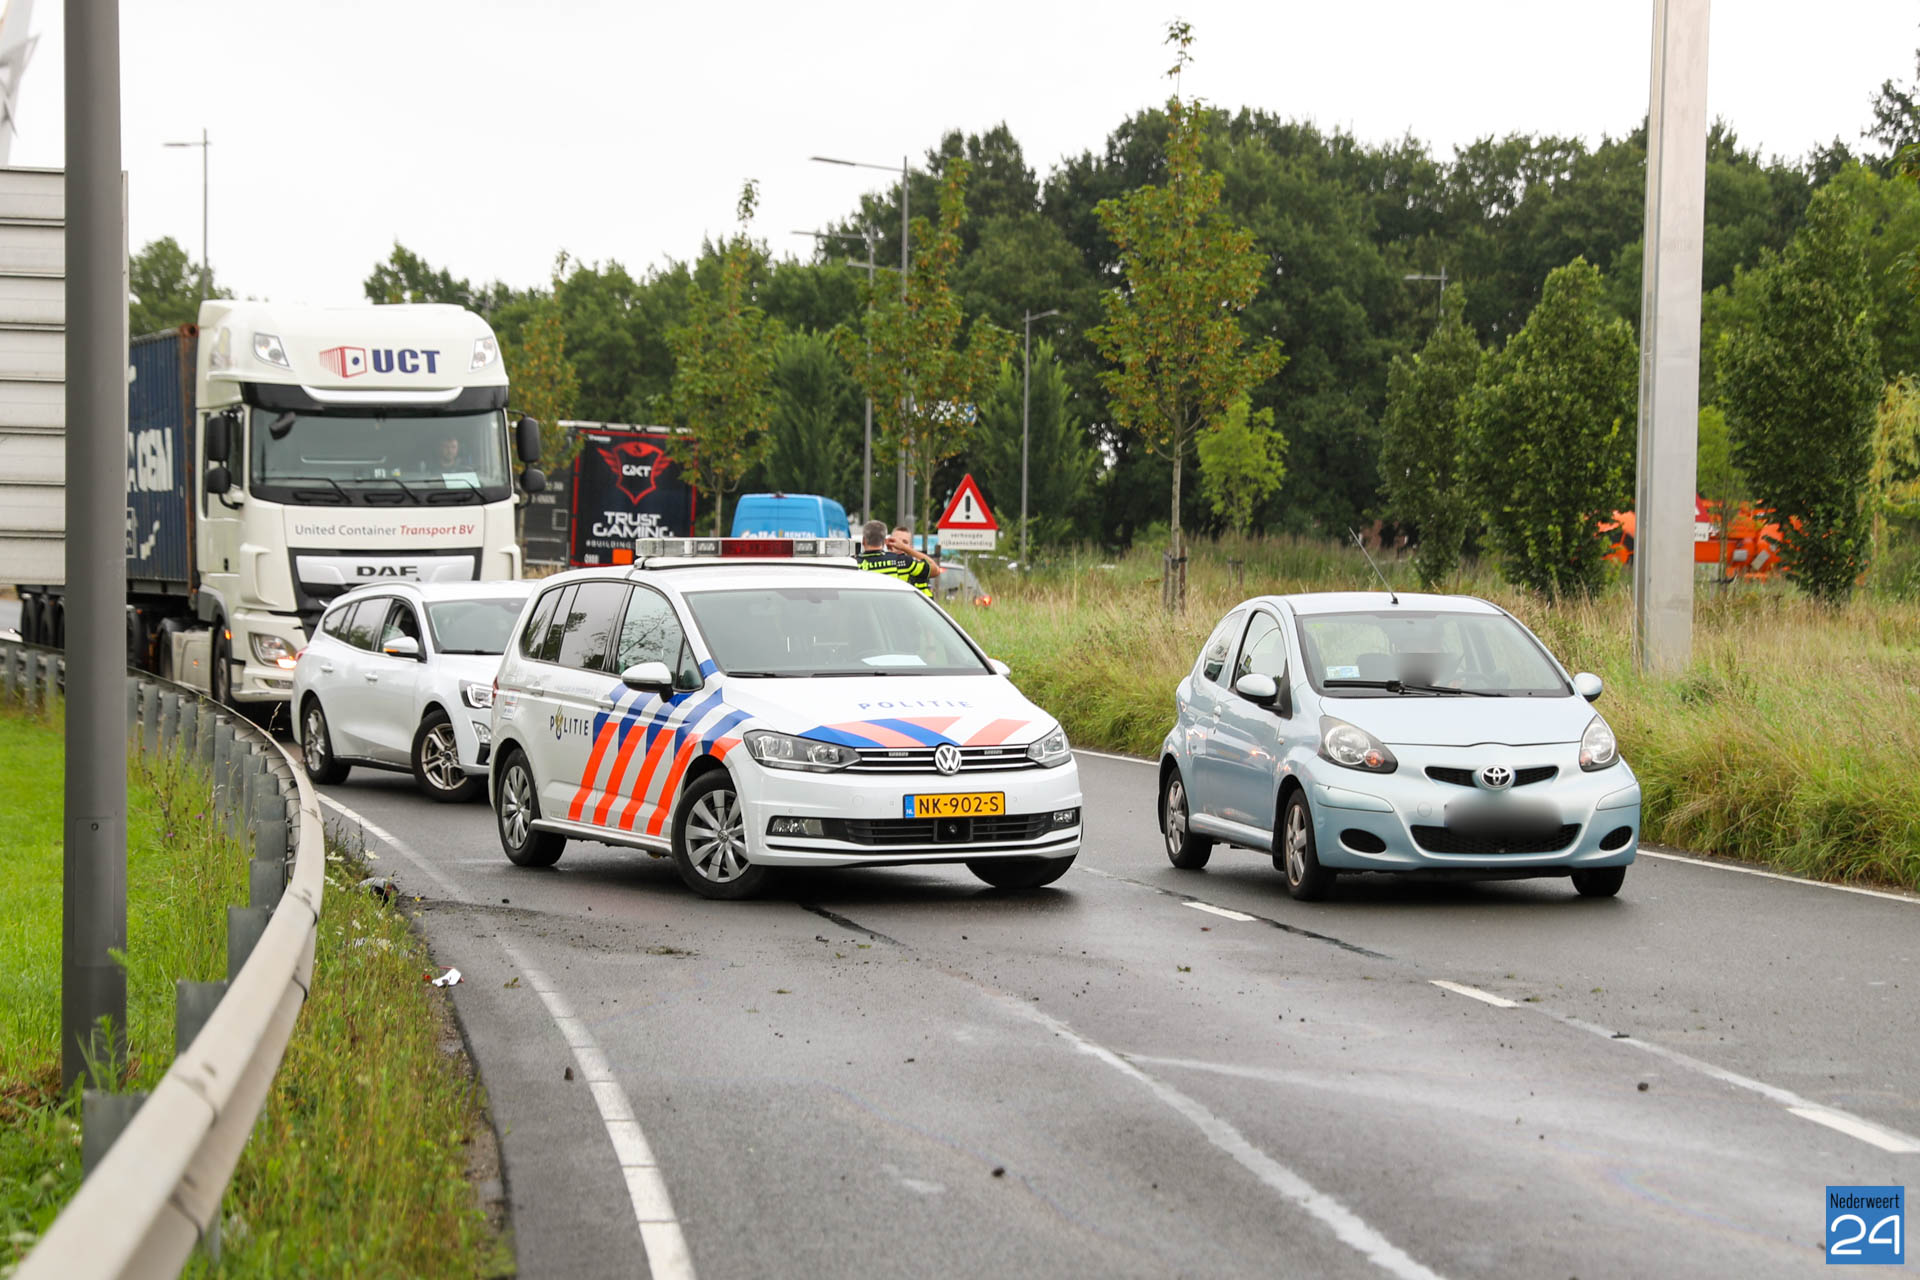
M 755 676 L 985 676 L 945 612 L 918 591 L 755 587 L 687 591 L 722 672 Z

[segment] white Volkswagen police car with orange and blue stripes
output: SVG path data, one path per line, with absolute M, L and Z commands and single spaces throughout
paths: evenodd
M 707 898 L 770 867 L 964 862 L 1048 885 L 1081 844 L 1068 737 L 851 539 L 641 539 L 528 601 L 493 697 L 507 858 L 670 854 Z

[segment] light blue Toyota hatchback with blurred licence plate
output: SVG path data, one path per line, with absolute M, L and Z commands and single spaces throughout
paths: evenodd
M 1584 896 L 1617 894 L 1640 783 L 1590 706 L 1599 687 L 1480 599 L 1256 597 L 1175 695 L 1167 858 L 1267 852 L 1302 900 L 1356 871 L 1571 875 Z

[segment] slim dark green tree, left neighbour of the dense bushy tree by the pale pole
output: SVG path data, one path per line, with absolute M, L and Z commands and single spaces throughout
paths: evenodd
M 1388 509 L 1419 530 L 1413 572 L 1432 591 L 1459 566 L 1471 501 L 1461 472 L 1461 426 L 1486 353 L 1467 326 L 1455 284 L 1440 299 L 1440 324 L 1413 359 L 1386 374 L 1380 486 Z

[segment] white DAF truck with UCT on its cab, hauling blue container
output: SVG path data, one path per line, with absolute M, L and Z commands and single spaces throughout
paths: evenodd
M 509 418 L 478 315 L 207 301 L 136 338 L 129 378 L 129 660 L 271 714 L 342 591 L 520 578 L 540 424 Z M 23 637 L 60 645 L 61 583 L 19 595 Z

